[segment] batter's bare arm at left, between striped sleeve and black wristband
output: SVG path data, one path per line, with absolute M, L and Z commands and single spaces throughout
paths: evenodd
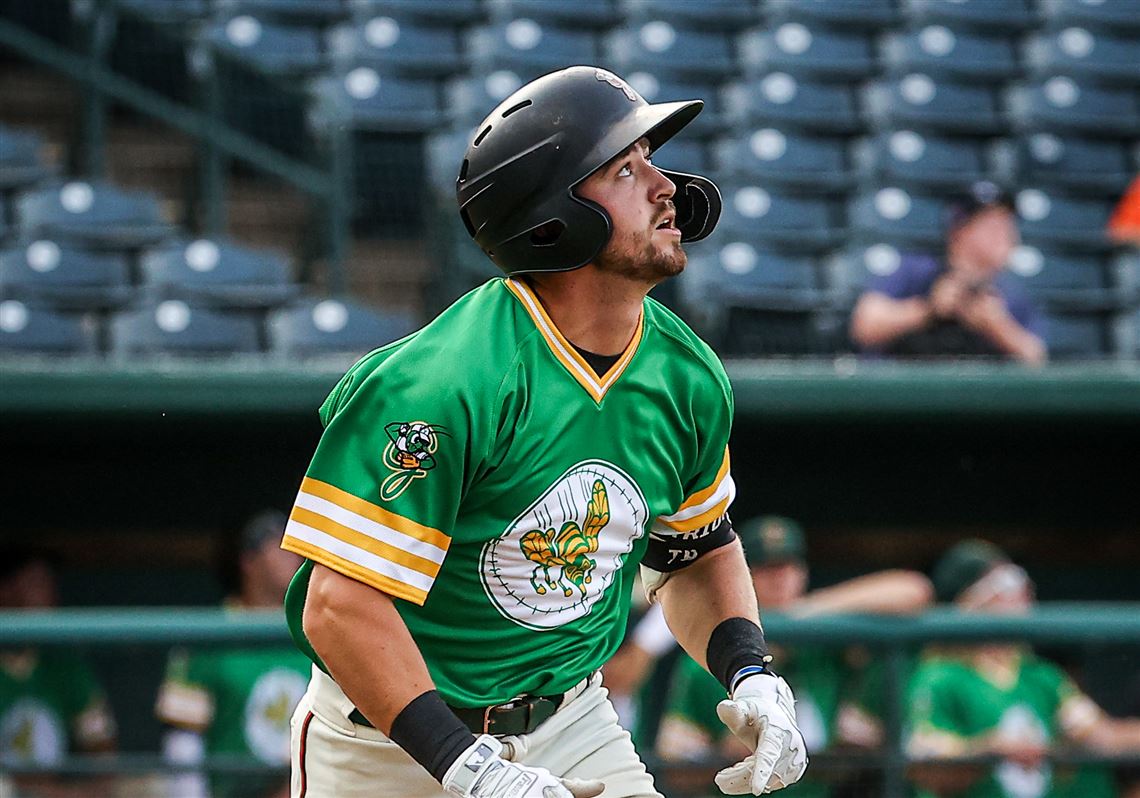
M 413 699 L 434 689 L 404 619 L 380 591 L 318 564 L 303 625 L 336 684 L 384 733 Z

